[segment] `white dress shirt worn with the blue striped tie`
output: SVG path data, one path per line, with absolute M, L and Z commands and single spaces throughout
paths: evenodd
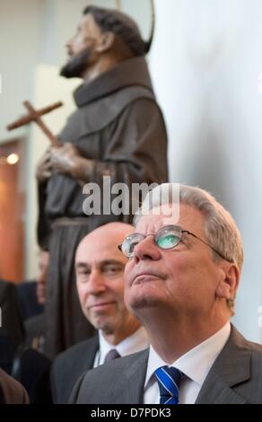
M 144 383 L 144 404 L 158 404 L 160 402 L 159 386 L 153 373 L 163 365 L 174 366 L 187 375 L 179 385 L 179 402 L 181 404 L 194 404 L 206 375 L 225 346 L 230 333 L 231 324 L 227 322 L 221 330 L 189 350 L 185 355 L 180 356 L 172 365 L 164 362 L 151 346 Z

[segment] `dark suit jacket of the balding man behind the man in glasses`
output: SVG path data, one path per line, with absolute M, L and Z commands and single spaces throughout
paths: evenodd
M 51 369 L 53 402 L 68 403 L 74 384 L 80 376 L 92 369 L 99 349 L 98 336 L 68 348 L 55 359 Z

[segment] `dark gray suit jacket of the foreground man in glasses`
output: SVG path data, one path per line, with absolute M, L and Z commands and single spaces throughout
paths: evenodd
M 143 404 L 148 350 L 99 366 L 75 384 L 70 403 Z M 231 327 L 196 403 L 262 403 L 262 347 Z

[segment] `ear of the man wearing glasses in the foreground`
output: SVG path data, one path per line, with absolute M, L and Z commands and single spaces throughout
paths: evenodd
M 236 264 L 227 262 L 221 270 L 222 277 L 216 287 L 216 296 L 221 299 L 233 300 L 240 282 L 240 269 Z

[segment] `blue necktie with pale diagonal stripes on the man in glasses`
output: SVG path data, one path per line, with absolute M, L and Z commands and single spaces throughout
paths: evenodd
M 162 366 L 154 374 L 160 390 L 160 404 L 179 404 L 179 382 L 183 373 L 173 366 Z

